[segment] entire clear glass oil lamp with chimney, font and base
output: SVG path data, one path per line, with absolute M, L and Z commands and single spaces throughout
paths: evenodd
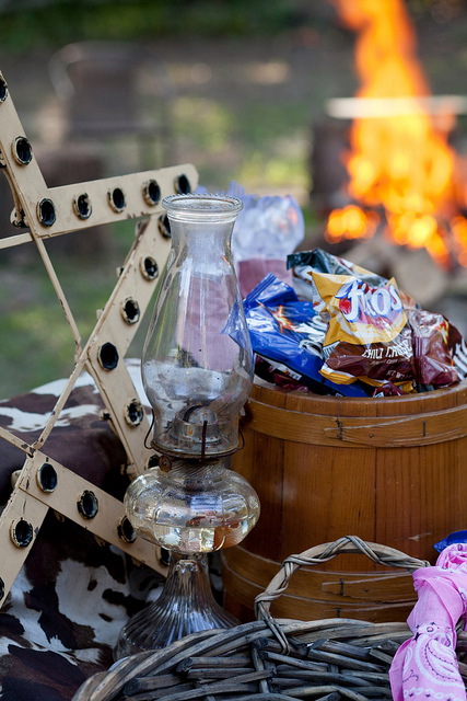
M 241 200 L 163 200 L 172 250 L 142 356 L 159 467 L 137 478 L 125 507 L 135 530 L 171 552 L 160 597 L 121 630 L 116 657 L 191 632 L 236 624 L 214 600 L 207 553 L 241 542 L 259 501 L 227 467 L 253 382 L 253 352 L 231 255 Z

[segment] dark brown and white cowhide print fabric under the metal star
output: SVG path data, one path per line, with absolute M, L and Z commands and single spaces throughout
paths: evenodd
M 136 366 L 133 367 L 136 370 Z M 136 378 L 138 383 L 138 378 Z M 65 381 L 0 402 L 0 425 L 34 443 Z M 101 397 L 83 376 L 44 452 L 118 498 L 128 485 L 118 437 L 100 420 Z M 0 498 L 24 453 L 0 441 Z M 1 576 L 1 573 L 0 573 Z M 49 512 L 0 609 L 1 701 L 66 701 L 91 675 L 113 664 L 112 648 L 128 617 L 155 598 L 162 577 L 122 551 Z

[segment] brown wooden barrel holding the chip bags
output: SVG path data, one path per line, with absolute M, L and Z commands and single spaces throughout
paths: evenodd
M 234 469 L 261 515 L 222 553 L 224 606 L 252 620 L 253 601 L 289 555 L 359 536 L 434 564 L 433 544 L 467 528 L 467 381 L 416 394 L 349 399 L 255 382 Z M 275 616 L 402 621 L 417 596 L 407 573 L 343 555 L 302 570 Z

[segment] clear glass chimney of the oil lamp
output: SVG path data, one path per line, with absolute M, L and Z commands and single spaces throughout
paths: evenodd
M 213 458 L 238 448 L 238 416 L 253 382 L 253 352 L 231 253 L 242 203 L 217 195 L 163 200 L 167 260 L 142 356 L 154 411 L 152 446 Z

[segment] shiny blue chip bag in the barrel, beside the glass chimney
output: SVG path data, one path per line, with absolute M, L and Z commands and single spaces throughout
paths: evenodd
M 272 273 L 244 299 L 246 323 L 253 350 L 262 358 L 285 366 L 318 394 L 367 397 L 369 388 L 360 381 L 337 384 L 319 370 L 327 323 L 313 310 L 313 302 L 300 301 L 290 285 Z

